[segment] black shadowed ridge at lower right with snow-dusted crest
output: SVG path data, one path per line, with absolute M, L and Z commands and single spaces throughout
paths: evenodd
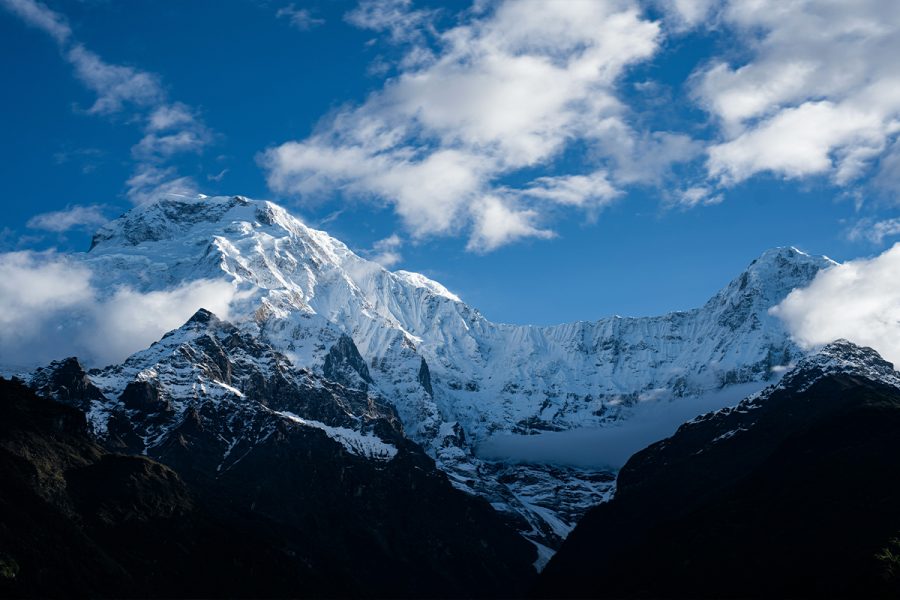
M 900 591 L 900 374 L 845 341 L 635 454 L 542 574 L 550 597 Z M 892 575 L 893 573 L 893 575 Z

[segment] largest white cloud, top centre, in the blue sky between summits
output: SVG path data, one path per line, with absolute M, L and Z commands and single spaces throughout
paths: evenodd
M 404 36 L 399 24 L 428 17 L 408 9 L 369 2 L 348 15 L 394 41 L 412 40 L 411 48 L 397 77 L 363 104 L 262 155 L 273 190 L 387 202 L 413 237 L 467 233 L 475 251 L 551 237 L 543 221 L 553 207 L 618 197 L 613 174 L 596 165 L 522 188 L 499 180 L 545 168 L 575 143 L 608 154 L 632 137 L 615 85 L 660 41 L 658 24 L 635 3 L 479 4 L 463 24 L 435 32 L 436 48 Z M 656 143 L 648 140 L 643 146 Z

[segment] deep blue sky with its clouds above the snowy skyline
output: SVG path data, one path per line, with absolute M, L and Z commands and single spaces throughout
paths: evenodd
M 493 320 L 557 323 L 900 233 L 894 2 L 0 7 L 4 251 L 243 194 Z

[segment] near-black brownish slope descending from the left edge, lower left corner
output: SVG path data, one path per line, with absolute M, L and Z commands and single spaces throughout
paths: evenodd
M 3 379 L 0 478 L 5 597 L 250 595 L 307 579 L 324 589 L 171 469 L 107 452 L 78 410 Z

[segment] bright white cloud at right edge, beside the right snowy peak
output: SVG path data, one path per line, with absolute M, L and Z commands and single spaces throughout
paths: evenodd
M 900 365 L 900 244 L 820 272 L 771 312 L 802 346 L 845 338 Z

